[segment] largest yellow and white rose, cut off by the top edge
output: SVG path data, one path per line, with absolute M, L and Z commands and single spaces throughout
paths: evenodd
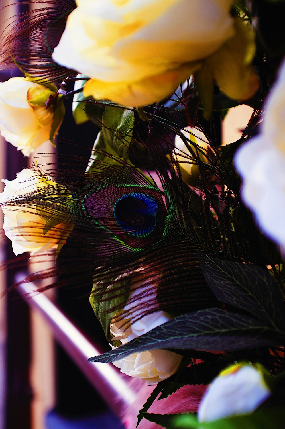
M 53 59 L 90 79 L 84 95 L 127 106 L 171 94 L 233 36 L 232 0 L 77 0 Z

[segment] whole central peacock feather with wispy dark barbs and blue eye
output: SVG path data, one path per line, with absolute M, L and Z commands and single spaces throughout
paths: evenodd
M 233 188 L 233 172 L 219 162 L 221 157 L 215 148 L 207 163 L 201 161 L 200 146 L 184 136 L 193 149 L 181 155 L 200 169 L 197 187 L 186 185 L 173 154 L 173 136 L 181 135 L 180 124 L 173 122 L 168 127 L 161 118 L 163 113 L 152 114 L 147 139 L 139 139 L 133 132 L 130 147 L 139 141 L 147 150 L 145 160 L 140 159 L 141 170 L 98 149 L 105 161 L 95 160 L 93 172 L 87 178 L 79 171 L 86 163 L 83 158 L 59 155 L 59 169 L 53 172 L 52 163 L 45 169 L 58 185 L 7 202 L 15 207 L 24 204 L 27 211 L 36 205 L 60 219 L 55 195 L 65 187 L 73 197 L 74 206 L 62 211 L 67 221 L 70 216 L 75 217 L 75 226 L 60 251 L 56 268 L 30 275 L 27 281 L 60 275 L 51 287 L 86 284 L 90 290 L 94 281 L 96 296 L 109 302 L 105 311 L 110 312 L 124 306 L 122 301 L 112 302 L 106 293 L 110 287 L 112 294 L 125 299 L 126 287 L 127 295 L 130 288 L 138 289 L 142 296 L 149 296 L 147 304 L 136 305 L 135 316 L 139 318 L 158 309 L 175 315 L 220 305 L 204 280 L 197 250 L 224 260 L 264 266 L 262 251 L 258 259 L 252 260 L 258 243 L 254 222 L 247 215 L 244 223 L 252 232 L 245 234 L 243 222 L 237 223 L 231 214 L 233 208 L 245 210 L 238 190 Z M 137 123 L 134 130 L 136 127 Z M 108 162 L 111 158 L 117 165 Z M 61 164 L 65 170 L 61 170 Z M 209 174 L 216 181 L 209 181 Z M 155 181 L 151 177 L 156 177 Z M 222 210 L 218 208 L 220 199 L 224 201 Z M 43 252 L 43 259 L 45 255 Z M 132 311 L 130 308 L 121 317 L 130 316 Z

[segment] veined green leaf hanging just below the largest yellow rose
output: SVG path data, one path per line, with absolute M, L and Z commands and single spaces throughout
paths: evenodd
M 134 115 L 132 110 L 109 106 L 103 117 L 102 132 L 111 148 L 122 159 L 128 158 L 133 134 Z

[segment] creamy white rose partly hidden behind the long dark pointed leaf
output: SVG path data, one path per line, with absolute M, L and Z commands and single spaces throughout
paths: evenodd
M 149 296 L 140 299 L 142 289 L 146 290 L 146 287 L 140 287 L 132 292 L 130 297 L 135 299 L 127 303 L 124 310 L 135 308 L 137 304 L 141 304 L 149 299 Z M 147 314 L 140 320 L 133 322 L 132 320 L 135 320 L 136 317 L 137 312 L 135 311 L 132 313 L 130 320 L 123 319 L 111 323 L 110 332 L 114 336 L 113 339 L 120 340 L 122 344 L 125 344 L 166 323 L 172 318 L 164 311 Z M 117 368 L 120 368 L 124 374 L 130 375 L 130 377 L 139 377 L 152 384 L 158 383 L 158 381 L 164 380 L 174 374 L 181 360 L 182 356 L 168 350 L 147 350 L 132 353 L 124 359 L 113 362 L 113 364 Z

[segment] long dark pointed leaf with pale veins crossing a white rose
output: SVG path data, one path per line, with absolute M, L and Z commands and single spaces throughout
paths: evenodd
M 109 363 L 130 353 L 152 349 L 240 350 L 280 344 L 284 331 L 265 320 L 209 308 L 183 314 L 116 350 L 91 357 L 89 362 Z M 178 351 L 179 353 L 179 351 Z

